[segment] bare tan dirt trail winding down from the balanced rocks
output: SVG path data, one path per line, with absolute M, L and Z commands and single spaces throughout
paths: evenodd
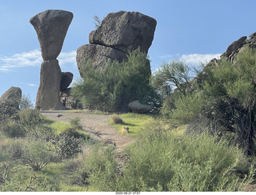
M 118 133 L 117 129 L 108 124 L 110 115 L 68 112 L 65 110 L 41 111 L 43 115 L 54 121 L 70 122 L 74 117 L 80 118 L 82 128 L 90 133 L 90 136 L 96 140 L 103 141 L 106 144 L 114 144 L 118 151 L 134 141 L 133 137 L 127 137 Z

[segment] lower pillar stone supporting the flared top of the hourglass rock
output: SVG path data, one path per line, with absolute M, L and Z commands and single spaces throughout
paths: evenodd
M 42 62 L 36 109 L 66 109 L 59 98 L 61 81 L 62 71 L 58 65 L 58 60 Z

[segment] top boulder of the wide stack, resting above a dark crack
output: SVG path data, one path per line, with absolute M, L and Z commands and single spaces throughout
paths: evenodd
M 110 46 L 128 53 L 138 46 L 148 52 L 157 21 L 139 12 L 118 11 L 107 14 L 101 26 L 90 33 L 91 44 Z

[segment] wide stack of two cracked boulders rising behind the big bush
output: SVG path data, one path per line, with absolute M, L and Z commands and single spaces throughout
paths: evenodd
M 78 70 L 90 59 L 95 68 L 104 69 L 108 60 L 122 62 L 138 47 L 148 52 L 156 27 L 156 20 L 138 12 L 118 11 L 102 20 L 101 26 L 89 35 L 90 44 L 77 50 Z

